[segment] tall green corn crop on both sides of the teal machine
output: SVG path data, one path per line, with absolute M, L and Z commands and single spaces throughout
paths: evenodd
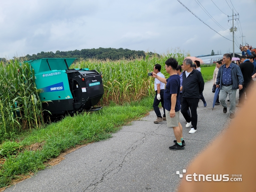
M 167 77 L 165 61 L 173 57 L 182 64 L 185 57 L 180 50 L 161 57 L 149 56 L 135 60 L 80 60 L 69 68 L 89 68 L 102 72 L 104 95 L 101 105 L 110 102 L 124 104 L 138 101 L 154 92 L 154 78 L 148 76 L 155 64 Z M 35 87 L 33 70 L 26 62 L 10 60 L 0 63 L 0 143 L 11 134 L 44 124 L 42 103 Z

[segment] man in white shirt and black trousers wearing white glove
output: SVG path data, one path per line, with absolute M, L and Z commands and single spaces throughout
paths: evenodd
M 155 64 L 153 71 L 158 76 L 165 78 L 165 76 L 160 72 L 161 67 L 162 66 L 160 64 Z M 159 123 L 164 120 L 166 121 L 165 108 L 163 106 L 163 93 L 165 92 L 165 84 L 159 81 L 157 78 L 155 78 L 154 88 L 155 88 L 155 98 L 154 98 L 153 108 L 154 108 L 155 114 L 157 115 L 157 119 L 154 121 L 154 123 Z M 161 112 L 158 108 L 158 105 L 160 102 L 163 107 L 163 117 L 161 116 Z

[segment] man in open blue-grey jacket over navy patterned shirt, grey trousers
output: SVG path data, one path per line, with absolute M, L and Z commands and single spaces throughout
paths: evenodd
M 217 75 L 216 88 L 219 87 L 219 101 L 223 106 L 223 113 L 227 113 L 227 103 L 226 98 L 229 94 L 230 106 L 229 113 L 230 118 L 234 118 L 234 113 L 236 110 L 236 92 L 237 89 L 241 90 L 243 88 L 242 84 L 244 78 L 242 76 L 241 69 L 238 65 L 231 63 L 231 54 L 226 53 L 223 55 L 224 65 L 221 65 Z

